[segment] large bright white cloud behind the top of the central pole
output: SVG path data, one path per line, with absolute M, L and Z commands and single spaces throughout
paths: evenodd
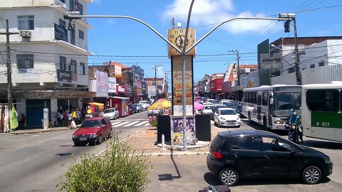
M 190 0 L 174 0 L 173 3 L 166 6 L 163 12 L 163 19 L 170 20 L 174 17 L 176 22 L 182 22 L 185 27 Z M 195 0 L 192 11 L 190 26 L 203 26 L 213 23 L 222 22 L 233 17 L 264 17 L 264 13 L 252 13 L 243 11 L 238 14 L 236 12 L 232 0 Z M 230 33 L 247 33 L 259 32 L 265 27 L 272 27 L 270 20 L 239 20 L 230 21 L 223 24 L 220 28 Z M 269 26 L 267 26 L 269 25 Z M 214 25 L 213 25 L 214 26 Z M 212 27 L 213 27 L 212 26 Z

